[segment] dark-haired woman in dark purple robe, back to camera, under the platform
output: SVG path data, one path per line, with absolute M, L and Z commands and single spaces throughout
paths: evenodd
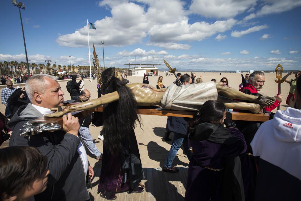
M 239 130 L 225 128 L 225 118 L 225 105 L 209 100 L 189 122 L 192 158 L 185 193 L 187 201 L 244 200 L 238 155 L 247 146 Z

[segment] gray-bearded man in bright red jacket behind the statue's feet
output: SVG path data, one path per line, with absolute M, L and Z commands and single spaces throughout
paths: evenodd
M 248 83 L 245 87 L 241 88 L 240 91 L 246 94 L 258 95 L 258 92 L 262 89 L 265 83 L 265 74 L 262 71 L 254 71 L 250 74 Z M 277 94 L 274 96 L 276 101 L 269 106 L 264 108 L 265 111 L 272 111 L 277 108 L 277 106 L 282 102 L 282 94 Z

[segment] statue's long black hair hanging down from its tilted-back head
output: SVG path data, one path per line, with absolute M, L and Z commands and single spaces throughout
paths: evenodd
M 102 91 L 104 94 L 118 92 L 119 101 L 104 105 L 103 129 L 104 147 L 112 155 L 123 149 L 124 140 L 128 140 L 129 134 L 134 132 L 135 121 L 139 121 L 136 110 L 137 102 L 132 91 L 126 86 L 126 82 L 115 77 L 115 68 L 107 68 L 101 74 Z

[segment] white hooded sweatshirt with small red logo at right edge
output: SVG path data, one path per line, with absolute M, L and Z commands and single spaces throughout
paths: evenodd
M 259 127 L 251 146 L 254 156 L 301 180 L 301 110 L 278 110 Z

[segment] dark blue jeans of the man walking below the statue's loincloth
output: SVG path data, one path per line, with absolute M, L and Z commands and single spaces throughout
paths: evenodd
M 175 155 L 177 154 L 178 150 L 181 148 L 182 143 L 183 143 L 184 152 L 187 155 L 188 160 L 190 160 L 192 156 L 191 152 L 188 151 L 187 135 L 176 133 L 176 132 L 173 133 L 174 133 L 173 141 L 164 162 L 164 167 L 166 168 L 171 168 L 173 159 L 175 159 Z

